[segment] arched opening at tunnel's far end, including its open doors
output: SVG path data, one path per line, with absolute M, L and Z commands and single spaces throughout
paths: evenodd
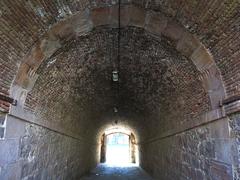
M 106 130 L 101 136 L 100 162 L 101 163 L 133 163 L 138 165 L 138 146 L 132 132 L 119 129 Z M 115 151 L 115 152 L 113 152 Z

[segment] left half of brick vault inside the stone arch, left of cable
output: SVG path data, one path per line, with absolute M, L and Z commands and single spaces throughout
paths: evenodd
M 116 56 L 107 49 L 116 47 L 112 47 L 116 32 L 97 30 L 45 62 L 26 108 L 35 111 L 40 121 L 53 121 L 76 133 L 89 132 L 92 121 L 113 108 L 111 73 Z

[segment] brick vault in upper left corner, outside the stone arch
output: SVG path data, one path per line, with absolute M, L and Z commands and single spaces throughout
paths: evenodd
M 34 43 L 56 22 L 86 8 L 101 7 L 102 1 L 7 1 L 0 2 L 0 93 L 9 95 L 19 64 Z M 8 111 L 9 104 L 0 102 Z

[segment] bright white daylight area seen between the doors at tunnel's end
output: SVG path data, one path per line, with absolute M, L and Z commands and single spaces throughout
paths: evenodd
M 107 136 L 106 163 L 117 166 L 129 165 L 130 143 L 128 135 L 114 133 Z

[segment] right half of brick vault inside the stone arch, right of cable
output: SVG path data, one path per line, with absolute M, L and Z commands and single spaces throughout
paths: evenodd
M 199 72 L 167 39 L 154 40 L 140 29 L 122 34 L 120 87 L 125 104 L 138 107 L 149 123 L 160 122 L 159 130 L 176 127 L 209 110 Z

